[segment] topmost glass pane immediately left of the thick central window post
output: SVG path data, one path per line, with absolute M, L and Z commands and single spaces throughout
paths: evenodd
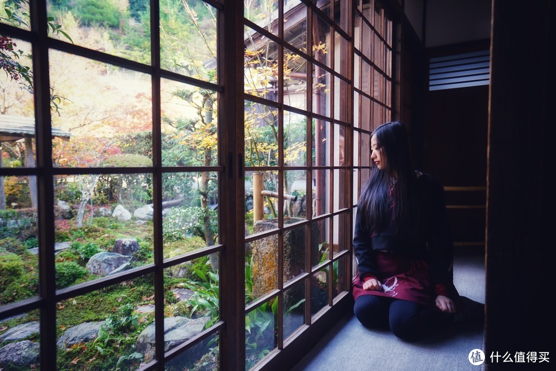
M 216 83 L 217 18 L 217 10 L 205 2 L 161 1 L 161 67 Z

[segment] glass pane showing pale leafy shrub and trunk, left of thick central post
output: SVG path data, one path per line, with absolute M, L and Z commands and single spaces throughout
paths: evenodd
M 162 174 L 162 238 L 164 257 L 171 258 L 217 243 L 218 174 Z

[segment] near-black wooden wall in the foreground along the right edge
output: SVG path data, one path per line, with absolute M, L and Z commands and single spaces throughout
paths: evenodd
M 487 369 L 554 363 L 552 149 L 554 2 L 493 1 L 486 230 Z M 552 124 L 554 120 L 551 120 Z M 549 352 L 549 363 L 490 354 Z M 551 357 L 552 356 L 552 357 Z

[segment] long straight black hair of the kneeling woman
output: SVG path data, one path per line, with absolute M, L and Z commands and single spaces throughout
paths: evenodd
M 370 231 L 381 230 L 392 222 L 396 232 L 414 236 L 419 226 L 418 200 L 405 126 L 400 121 L 385 123 L 373 131 L 373 136 L 379 153 L 386 157 L 386 169 L 380 170 L 376 165 L 371 169 L 359 197 L 360 219 Z

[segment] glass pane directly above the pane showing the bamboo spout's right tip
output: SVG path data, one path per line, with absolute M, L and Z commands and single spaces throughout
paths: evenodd
M 307 117 L 284 111 L 284 165 L 307 164 Z

